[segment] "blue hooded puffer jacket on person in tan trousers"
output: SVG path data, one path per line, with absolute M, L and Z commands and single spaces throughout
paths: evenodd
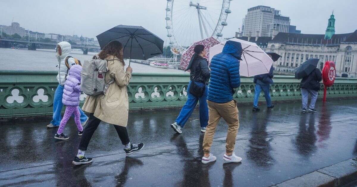
M 213 56 L 207 100 L 215 103 L 227 103 L 233 100 L 234 88 L 238 88 L 241 83 L 239 76 L 241 53 L 241 43 L 227 41 L 222 52 Z

